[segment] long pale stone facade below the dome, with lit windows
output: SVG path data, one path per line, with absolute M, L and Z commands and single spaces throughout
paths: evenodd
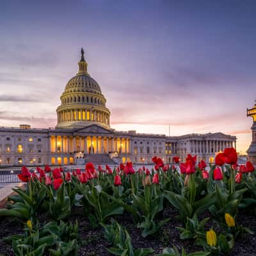
M 187 154 L 198 161 L 214 161 L 216 152 L 236 147 L 236 137 L 222 133 L 188 134 L 168 137 L 161 134 L 119 132 L 90 125 L 79 129 L 0 128 L 0 163 L 2 166 L 75 164 L 77 157 L 109 154 L 118 161 L 151 163 L 153 156 L 172 163 L 173 156 L 182 161 Z

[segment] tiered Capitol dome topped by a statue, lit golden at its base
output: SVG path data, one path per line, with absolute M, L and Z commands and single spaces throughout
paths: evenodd
M 81 50 L 79 71 L 72 77 L 62 93 L 61 105 L 57 108 L 56 128 L 85 127 L 92 124 L 109 127 L 109 109 L 100 86 L 87 72 L 84 51 Z

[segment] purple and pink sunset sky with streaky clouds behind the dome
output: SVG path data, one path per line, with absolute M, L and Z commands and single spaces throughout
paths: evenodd
M 0 1 L 0 126 L 54 127 L 78 70 L 111 127 L 156 134 L 223 132 L 250 145 L 256 100 L 256 1 Z

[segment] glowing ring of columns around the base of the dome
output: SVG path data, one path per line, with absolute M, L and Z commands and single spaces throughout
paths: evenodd
M 70 121 L 94 121 L 109 125 L 109 114 L 92 109 L 68 109 L 58 112 L 58 123 Z

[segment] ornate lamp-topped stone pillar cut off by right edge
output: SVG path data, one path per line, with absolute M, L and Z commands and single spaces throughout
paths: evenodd
M 247 116 L 251 116 L 253 118 L 252 124 L 252 143 L 248 150 L 246 151 L 248 154 L 248 160 L 253 164 L 256 164 L 256 104 L 251 109 L 247 109 Z

